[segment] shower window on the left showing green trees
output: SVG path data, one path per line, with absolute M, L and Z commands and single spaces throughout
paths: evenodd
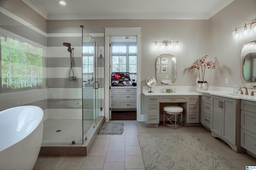
M 42 53 L 42 48 L 1 36 L 2 88 L 10 92 L 42 87 Z

